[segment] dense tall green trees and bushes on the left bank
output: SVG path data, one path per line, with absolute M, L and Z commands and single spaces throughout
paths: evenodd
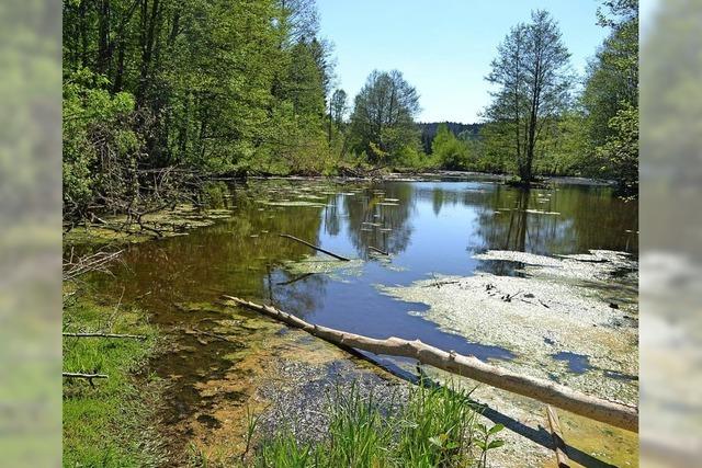
M 332 78 L 310 0 L 65 0 L 65 212 L 170 167 L 324 172 Z

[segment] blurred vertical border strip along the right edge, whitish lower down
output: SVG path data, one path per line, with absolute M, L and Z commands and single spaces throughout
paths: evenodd
M 642 0 L 641 465 L 702 455 L 702 2 Z

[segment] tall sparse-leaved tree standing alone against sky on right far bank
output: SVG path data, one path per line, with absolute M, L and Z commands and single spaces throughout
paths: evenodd
M 569 57 L 548 12 L 532 12 L 531 23 L 512 27 L 498 47 L 486 79 L 497 87 L 485 112 L 511 141 L 518 175 L 529 184 L 543 130 L 569 103 Z

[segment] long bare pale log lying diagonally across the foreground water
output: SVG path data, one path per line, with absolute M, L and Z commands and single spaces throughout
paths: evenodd
M 570 411 L 585 418 L 611 424 L 632 432 L 638 432 L 638 409 L 636 407 L 591 397 L 571 390 L 554 381 L 520 376 L 510 370 L 486 364 L 475 356 L 464 356 L 454 351 L 448 353 L 419 340 L 408 341 L 390 336 L 376 340 L 355 333 L 348 333 L 327 327 L 308 323 L 291 313 L 274 307 L 262 306 L 233 296 L 225 299 L 257 310 L 291 327 L 299 328 L 309 334 L 341 346 L 350 346 L 374 354 L 386 354 L 418 359 L 442 370 L 468 377 L 491 387 L 533 398 L 546 404 Z

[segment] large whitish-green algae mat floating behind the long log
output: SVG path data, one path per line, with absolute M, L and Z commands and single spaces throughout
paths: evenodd
M 488 252 L 476 258 L 528 260 L 529 276 L 477 273 L 443 277 L 439 287 L 433 287 L 437 279 L 432 278 L 378 289 L 407 303 L 428 305 L 429 310 L 414 315 L 446 332 L 514 353 L 513 361 L 500 362 L 502 367 L 556 379 L 590 395 L 635 403 L 637 380 L 612 376 L 638 374 L 636 303 L 622 301 L 621 307 L 612 308 L 607 294 L 591 283 L 585 286 L 576 281 L 604 278 L 614 266 L 610 262 L 582 262 L 582 256 L 578 261 L 513 253 Z M 597 255 L 622 260 L 604 252 Z M 587 356 L 587 372 L 571 372 L 563 361 L 554 358 L 557 353 Z

